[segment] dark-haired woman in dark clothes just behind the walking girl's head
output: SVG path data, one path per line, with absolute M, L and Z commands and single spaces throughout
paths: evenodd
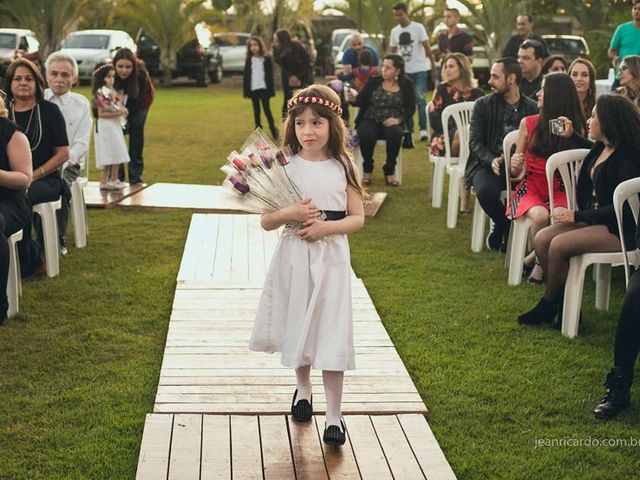
M 302 43 L 291 38 L 289 30 L 282 29 L 273 34 L 273 58 L 282 71 L 282 118 L 285 118 L 287 102 L 293 96 L 293 91 L 313 83 L 311 57 Z

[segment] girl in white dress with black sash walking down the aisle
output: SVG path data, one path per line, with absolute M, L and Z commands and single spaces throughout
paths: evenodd
M 250 349 L 282 352 L 295 369 L 291 414 L 313 415 L 311 367 L 322 370 L 327 399 L 323 440 L 342 445 L 342 384 L 355 368 L 351 262 L 347 234 L 364 225 L 364 191 L 345 148 L 340 98 L 312 85 L 288 102 L 283 145 L 294 153 L 290 177 L 308 197 L 262 215 L 265 230 L 285 225 L 265 279 Z

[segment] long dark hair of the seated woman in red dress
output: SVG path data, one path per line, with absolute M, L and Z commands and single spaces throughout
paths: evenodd
M 531 135 L 529 149 L 535 155 L 547 158 L 556 152 L 574 148 L 568 138 L 551 134 L 549 120 L 565 116 L 579 134 L 584 134 L 586 122 L 576 86 L 566 73 L 550 73 L 544 77 L 543 97 L 540 119 Z

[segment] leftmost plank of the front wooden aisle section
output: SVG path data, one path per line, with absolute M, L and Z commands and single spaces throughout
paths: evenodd
M 167 478 L 173 415 L 148 413 L 144 422 L 136 480 Z

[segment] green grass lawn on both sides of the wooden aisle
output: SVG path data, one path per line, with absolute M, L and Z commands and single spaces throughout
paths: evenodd
M 280 105 L 278 97 L 273 111 Z M 252 129 L 239 87 L 160 89 L 145 181 L 219 184 L 219 166 Z M 471 253 L 471 216 L 446 228 L 446 205 L 427 202 L 424 144 L 404 158 L 405 184 L 351 236 L 353 267 L 458 477 L 637 477 L 638 446 L 536 448 L 537 440 L 640 442 L 638 388 L 618 420 L 591 414 L 612 362 L 622 272 L 614 271 L 609 312 L 594 309 L 586 281 L 577 338 L 517 325 L 542 287 L 508 287 L 503 256 Z M 372 191 L 384 188 L 381 167 Z M 90 176 L 98 179 L 94 167 Z M 60 276 L 23 283 L 20 314 L 0 328 L 0 479 L 134 477 L 190 217 L 90 210 L 87 248 L 70 248 Z

